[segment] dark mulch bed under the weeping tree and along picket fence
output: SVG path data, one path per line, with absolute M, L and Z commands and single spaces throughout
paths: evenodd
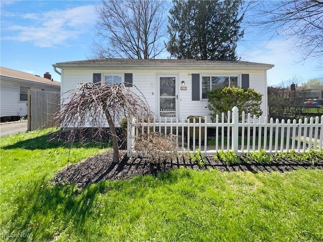
M 125 151 L 121 151 L 121 162 L 113 163 L 113 152 L 107 151 L 102 154 L 89 157 L 85 161 L 68 166 L 59 171 L 53 181 L 57 184 L 76 184 L 78 187 L 85 187 L 89 184 L 97 183 L 101 180 L 118 180 L 128 179 L 135 175 L 152 174 L 156 175 L 161 171 L 168 171 L 185 167 L 186 169 L 207 170 L 210 168 L 218 169 L 221 172 L 233 171 L 292 171 L 296 168 L 315 168 L 323 169 L 323 160 L 311 162 L 300 162 L 292 160 L 279 160 L 269 164 L 257 164 L 254 162 L 246 163 L 245 156 L 241 155 L 240 159 L 243 163 L 228 166 L 225 162 L 219 159 L 214 159 L 213 156 L 206 156 L 206 162 L 203 167 L 199 167 L 196 162 L 188 158 L 169 159 L 161 164 L 153 164 L 148 158 L 127 157 Z

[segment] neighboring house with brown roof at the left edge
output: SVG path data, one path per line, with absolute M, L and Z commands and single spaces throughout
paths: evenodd
M 17 120 L 27 115 L 28 89 L 60 92 L 61 83 L 47 72 L 43 77 L 0 67 L 1 121 Z

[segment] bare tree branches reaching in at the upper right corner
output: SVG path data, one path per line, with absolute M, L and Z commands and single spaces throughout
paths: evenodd
M 303 59 L 323 54 L 323 1 L 254 1 L 250 10 L 249 24 L 292 38 Z

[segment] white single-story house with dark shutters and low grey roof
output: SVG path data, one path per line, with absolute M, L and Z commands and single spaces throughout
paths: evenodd
M 53 65 L 61 75 L 63 94 L 75 89 L 79 83 L 125 82 L 130 90 L 136 92 L 135 85 L 142 92 L 158 117 L 174 119 L 207 116 L 207 91 L 231 85 L 258 91 L 266 116 L 266 72 L 273 67 L 244 61 L 195 59 L 88 59 Z

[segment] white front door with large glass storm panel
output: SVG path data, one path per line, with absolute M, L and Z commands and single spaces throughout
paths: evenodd
M 159 117 L 177 117 L 177 75 L 158 75 Z

